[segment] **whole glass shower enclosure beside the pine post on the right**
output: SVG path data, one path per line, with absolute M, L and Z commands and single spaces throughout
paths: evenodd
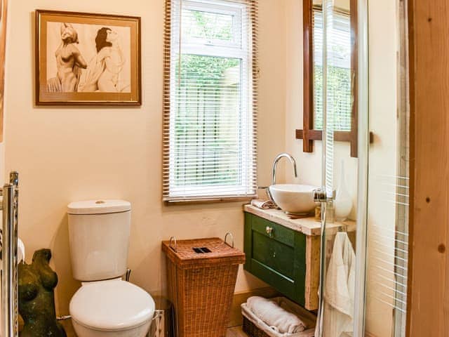
M 323 130 L 323 187 L 316 194 L 323 209 L 316 336 L 406 336 L 407 4 L 403 0 L 314 0 L 313 5 L 314 41 L 320 44 L 314 48 L 314 85 L 320 88 L 320 99 L 314 96 L 314 104 L 322 110 L 322 119 L 315 123 L 321 123 Z M 345 58 L 351 66 L 344 63 Z M 347 120 L 356 121 L 349 129 L 356 127 L 358 133 L 357 158 L 349 157 L 348 145 L 337 137 L 345 131 L 342 120 L 347 118 L 342 79 L 351 85 L 349 104 L 356 118 Z M 341 216 L 343 190 L 351 194 L 349 218 L 356 220 L 355 236 L 345 233 L 344 226 L 343 233 L 326 231 L 330 223 L 344 220 L 334 219 L 335 214 Z M 344 269 L 337 270 L 336 260 Z

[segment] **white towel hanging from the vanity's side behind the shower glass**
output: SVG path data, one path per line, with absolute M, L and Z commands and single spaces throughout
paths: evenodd
M 335 236 L 324 290 L 323 337 L 351 336 L 354 320 L 356 255 L 345 232 Z M 318 330 L 319 324 L 317 324 Z M 346 334 L 345 334 L 346 333 Z

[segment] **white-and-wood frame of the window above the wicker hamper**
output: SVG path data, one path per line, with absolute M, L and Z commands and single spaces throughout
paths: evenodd
M 1 1 L 1 0 L 0 0 Z M 206 204 L 206 203 L 215 203 L 215 202 L 234 202 L 241 200 L 252 199 L 257 196 L 257 167 L 255 163 L 257 162 L 257 92 L 258 92 L 258 0 L 220 0 L 216 1 L 219 4 L 210 3 L 210 1 L 202 1 L 202 0 L 190 0 L 185 1 L 185 4 L 181 7 L 179 2 L 183 0 L 166 0 L 166 8 L 165 8 L 165 32 L 164 32 L 164 55 L 163 55 L 163 65 L 164 65 L 164 84 L 163 84 L 163 191 L 162 191 L 162 200 L 166 205 L 175 205 L 175 204 Z M 223 2 L 224 4 L 220 4 Z M 188 3 L 188 6 L 186 5 Z M 177 4 L 177 12 L 175 13 L 175 5 Z M 206 6 L 207 4 L 207 6 Z M 186 7 L 187 6 L 187 7 Z M 228 8 L 229 7 L 229 8 Z M 237 8 L 238 7 L 238 8 Z M 241 7 L 245 7 L 246 10 L 243 11 Z M 196 39 L 196 41 L 189 41 L 189 46 L 186 48 L 182 48 L 183 51 L 188 51 L 194 55 L 207 55 L 213 57 L 230 57 L 230 58 L 238 58 L 241 59 L 241 67 L 244 67 L 247 70 L 248 77 L 248 88 L 241 88 L 239 90 L 239 101 L 243 102 L 242 98 L 245 97 L 245 102 L 248 102 L 248 107 L 246 109 L 241 108 L 241 116 L 243 114 L 248 114 L 247 124 L 252 126 L 252 131 L 250 131 L 250 135 L 248 134 L 248 140 L 244 142 L 241 140 L 241 143 L 248 143 L 248 146 L 239 146 L 240 159 L 246 160 L 248 162 L 245 165 L 245 169 L 240 170 L 240 177 L 247 177 L 246 180 L 248 182 L 243 182 L 243 178 L 233 185 L 235 187 L 234 190 L 230 190 L 230 185 L 217 185 L 215 186 L 213 192 L 207 189 L 204 186 L 198 186 L 198 188 L 191 188 L 189 193 L 173 193 L 172 184 L 170 183 L 170 175 L 173 171 L 170 169 L 170 152 L 173 150 L 171 145 L 171 117 L 173 114 L 172 110 L 172 95 L 175 95 L 177 91 L 176 88 L 173 90 L 172 84 L 174 77 L 174 66 L 173 66 L 173 41 L 178 41 L 180 45 L 184 42 L 180 36 L 174 36 L 173 32 L 178 32 L 179 26 L 181 25 L 180 17 L 182 16 L 182 12 L 180 9 L 182 8 L 190 8 L 199 10 L 199 11 L 207 11 L 213 13 L 222 13 L 226 14 L 230 13 L 234 16 L 234 21 L 236 20 L 237 15 L 241 15 L 239 23 L 233 22 L 234 25 L 239 25 L 239 34 L 242 35 L 241 45 L 237 46 L 235 43 L 232 44 L 223 44 L 222 41 L 220 44 L 212 45 L 210 41 L 201 41 L 201 39 Z M 173 30 L 173 18 L 174 13 L 179 16 L 177 20 L 177 27 Z M 243 15 L 244 14 L 244 15 Z M 243 22 L 243 20 L 247 20 Z M 247 25 L 245 24 L 247 23 Z M 236 32 L 236 28 L 234 27 L 234 32 Z M 248 27 L 248 37 L 243 39 L 243 34 L 245 29 L 243 27 Z M 238 35 L 238 34 L 237 34 Z M 176 39 L 176 40 L 173 40 Z M 197 46 L 197 44 L 201 45 L 207 42 L 207 53 L 205 53 L 204 46 Z M 245 48 L 245 52 L 243 49 Z M 176 48 L 177 49 L 177 48 Z M 179 51 L 180 52 L 180 51 Z M 201 53 L 200 53 L 201 52 Z M 250 59 L 250 61 L 249 61 Z M 176 65 L 177 66 L 177 65 Z M 243 70 L 241 70 L 243 72 Z M 245 75 L 243 75 L 245 77 Z M 249 83 L 250 82 L 250 83 Z M 251 116 L 249 114 L 251 112 Z M 241 128 L 240 124 L 238 128 Z M 243 130 L 243 129 L 242 129 Z M 249 132 L 249 131 L 248 131 Z M 237 133 L 239 134 L 239 133 Z M 240 136 L 241 138 L 243 136 Z M 244 151 L 248 150 L 248 154 L 242 154 Z M 243 156 L 243 157 L 242 157 Z M 253 161 L 250 163 L 248 158 Z M 245 170 L 245 171 L 243 171 Z M 244 173 L 244 174 L 243 174 Z M 185 185 L 187 186 L 187 185 Z M 225 191 L 225 192 L 223 192 Z M 243 192 L 242 192 L 243 191 Z

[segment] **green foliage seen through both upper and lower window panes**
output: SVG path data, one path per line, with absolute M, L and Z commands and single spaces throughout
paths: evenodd
M 182 18 L 181 38 L 196 50 L 175 62 L 173 185 L 236 185 L 241 178 L 235 165 L 241 155 L 241 59 L 206 55 L 204 48 L 234 39 L 234 17 L 186 9 Z

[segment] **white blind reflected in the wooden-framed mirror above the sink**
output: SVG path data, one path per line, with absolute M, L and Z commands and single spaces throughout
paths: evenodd
M 335 131 L 351 131 L 351 18 L 339 8 L 333 8 L 328 27 L 328 109 L 333 111 Z M 314 46 L 314 128 L 323 128 L 323 11 L 313 8 Z M 329 116 L 328 112 L 328 116 Z

